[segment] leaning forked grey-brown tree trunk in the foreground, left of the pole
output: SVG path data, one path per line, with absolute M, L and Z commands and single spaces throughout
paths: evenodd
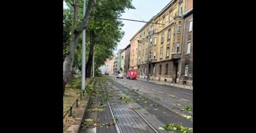
M 77 3 L 73 4 L 73 6 L 74 6 L 74 18 L 73 19 L 77 18 L 77 11 L 78 11 L 78 0 L 75 0 L 75 2 L 77 2 Z M 77 6 L 77 10 L 76 10 L 75 6 Z M 69 46 L 69 54 L 65 58 L 65 61 L 63 63 L 63 95 L 64 95 L 64 92 L 65 92 L 65 85 L 67 83 L 68 73 L 69 73 L 69 71 L 72 67 L 71 62 L 73 62 L 73 57 L 74 57 L 74 53 L 75 53 L 75 50 L 76 50 L 76 46 L 77 46 L 79 36 L 83 32 L 83 30 L 86 29 L 86 27 L 88 25 L 89 17 L 90 17 L 91 10 L 92 10 L 93 6 L 94 6 L 94 0 L 90 0 L 88 2 L 86 15 L 84 15 L 84 17 L 83 17 L 83 24 L 80 25 L 80 27 L 73 32 L 73 40 L 71 40 L 71 44 Z M 73 24 L 74 23 L 76 23 L 75 20 L 73 21 Z M 74 25 L 74 26 L 76 26 L 76 25 Z

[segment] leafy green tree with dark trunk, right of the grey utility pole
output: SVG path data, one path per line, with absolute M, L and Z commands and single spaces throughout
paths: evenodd
M 93 13 L 108 17 L 120 17 L 125 9 L 135 9 L 130 0 L 104 0 L 95 3 Z M 89 40 L 89 55 L 86 64 L 86 77 L 91 75 L 92 55 L 96 46 L 95 60 L 97 64 L 104 64 L 107 58 L 112 56 L 113 50 L 121 41 L 124 32 L 121 31 L 122 21 L 92 16 L 88 24 L 87 34 Z M 99 52 L 98 52 L 99 51 Z

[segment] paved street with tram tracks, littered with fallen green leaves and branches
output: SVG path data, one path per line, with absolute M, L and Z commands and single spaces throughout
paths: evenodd
M 95 85 L 102 85 L 103 89 L 92 93 L 91 104 L 85 112 L 86 119 L 99 120 L 100 124 L 115 124 L 86 128 L 80 132 L 173 132 L 158 129 L 170 123 L 193 127 L 192 112 L 181 110 L 185 105 L 192 107 L 192 90 L 147 81 L 117 79 L 115 75 L 103 77 L 107 80 Z M 88 111 L 99 104 L 106 105 L 103 111 Z M 186 119 L 182 115 L 191 118 Z

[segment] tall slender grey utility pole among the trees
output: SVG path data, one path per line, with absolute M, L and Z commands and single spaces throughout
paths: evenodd
M 86 15 L 86 0 L 83 5 L 83 16 Z M 86 89 L 86 29 L 83 30 L 83 57 L 82 57 L 82 90 Z

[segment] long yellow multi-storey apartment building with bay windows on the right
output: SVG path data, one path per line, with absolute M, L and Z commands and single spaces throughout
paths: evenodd
M 149 20 L 155 24 L 144 25 L 134 35 L 133 38 L 138 36 L 139 78 L 179 82 L 185 3 L 187 1 L 169 2 Z

